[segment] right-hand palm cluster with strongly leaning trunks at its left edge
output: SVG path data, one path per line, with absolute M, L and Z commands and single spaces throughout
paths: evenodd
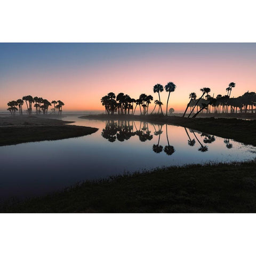
M 256 93 L 245 92 L 242 96 L 237 98 L 230 98 L 232 89 L 235 87 L 235 83 L 231 82 L 226 88 L 227 95 L 218 94 L 216 98 L 211 97 L 209 94 L 211 89 L 204 87 L 201 89 L 202 95 L 197 99 L 197 95 L 194 92 L 189 94 L 190 101 L 183 114 L 183 117 L 190 108 L 190 114 L 194 114 L 192 117 L 196 117 L 199 113 L 256 113 L 256 109 L 253 112 L 253 107 L 256 106 Z

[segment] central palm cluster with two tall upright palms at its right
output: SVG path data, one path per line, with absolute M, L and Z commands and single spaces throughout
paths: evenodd
M 157 114 L 159 114 L 159 111 L 161 110 L 162 115 L 164 115 L 162 109 L 163 102 L 161 102 L 160 98 L 160 92 L 162 92 L 164 88 L 165 91 L 169 93 L 166 103 L 167 116 L 170 93 L 174 92 L 176 88 L 176 85 L 172 82 L 167 83 L 164 87 L 161 84 L 156 84 L 153 87 L 153 92 L 158 93 L 159 100 L 154 101 L 155 107 L 150 114 L 153 114 L 156 106 L 158 106 Z M 107 115 L 114 115 L 115 112 L 117 112 L 117 114 L 119 115 L 134 115 L 137 106 L 139 106 L 141 115 L 148 115 L 148 108 L 151 101 L 153 101 L 152 95 L 147 95 L 145 93 L 140 94 L 138 99 L 133 99 L 129 95 L 122 92 L 118 93 L 117 96 L 115 95 L 115 93 L 110 92 L 101 98 L 102 106 L 105 106 L 105 111 Z

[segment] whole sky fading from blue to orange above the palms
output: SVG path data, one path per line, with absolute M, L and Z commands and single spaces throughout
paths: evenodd
M 108 92 L 155 100 L 153 86 L 173 82 L 169 108 L 179 112 L 202 87 L 214 97 L 230 82 L 231 97 L 256 91 L 255 70 L 256 43 L 0 43 L 0 110 L 24 95 L 61 100 L 63 111 L 104 110 Z

